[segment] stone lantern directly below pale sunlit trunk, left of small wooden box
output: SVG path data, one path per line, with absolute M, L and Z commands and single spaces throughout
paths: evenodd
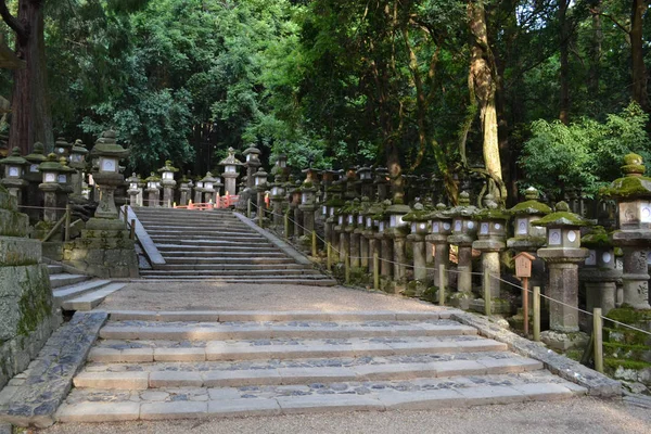
M 472 248 L 482 252 L 483 271 L 488 271 L 490 278 L 490 303 L 492 311 L 495 314 L 508 314 L 509 303 L 501 298 L 500 294 L 500 252 L 507 246 L 507 224 L 510 215 L 499 208 L 493 194 L 484 196 L 484 208 L 475 214 L 475 219 L 480 229 L 477 240 L 472 243 Z M 474 309 L 482 311 L 484 303 L 473 306 Z

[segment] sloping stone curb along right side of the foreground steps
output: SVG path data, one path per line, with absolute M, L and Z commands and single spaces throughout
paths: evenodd
M 492 323 L 486 318 L 458 310 L 452 311 L 451 319 L 462 324 L 474 327 L 482 336 L 509 345 L 509 349 L 513 353 L 541 361 L 545 368 L 551 373 L 586 387 L 588 395 L 603 397 L 622 396 L 622 384 L 618 381 L 586 368 L 578 361 L 561 356 L 540 343 L 532 342 L 505 330 Z

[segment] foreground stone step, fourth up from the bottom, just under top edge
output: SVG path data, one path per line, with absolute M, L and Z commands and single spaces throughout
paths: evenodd
M 352 321 L 343 324 L 320 321 L 161 323 L 157 321 L 112 322 L 100 336 L 113 340 L 216 341 L 260 339 L 350 339 L 378 336 L 474 335 L 476 329 L 450 320 Z

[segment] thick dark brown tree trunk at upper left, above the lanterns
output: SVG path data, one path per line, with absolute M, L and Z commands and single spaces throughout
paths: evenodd
M 47 91 L 46 42 L 43 37 L 43 0 L 21 0 L 18 22 L 24 31 L 16 33 L 16 53 L 27 67 L 14 73 L 10 148 L 23 154 L 41 142 L 49 152 L 54 146 L 52 117 Z

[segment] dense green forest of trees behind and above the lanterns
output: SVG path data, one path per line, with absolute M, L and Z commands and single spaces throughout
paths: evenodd
M 648 0 L 0 0 L 0 34 L 34 58 L 28 77 L 0 71 L 0 94 L 28 94 L 20 116 L 42 127 L 14 127 L 13 98 L 0 135 L 28 151 L 59 136 L 92 144 L 114 128 L 132 150 L 128 173 L 142 175 L 165 159 L 203 175 L 229 146 L 256 143 L 295 168 L 386 166 L 397 187 L 401 174 L 435 176 L 452 202 L 468 173 L 509 202 L 528 186 L 552 200 L 590 196 L 621 176 L 625 153 L 651 161 L 649 10 Z

